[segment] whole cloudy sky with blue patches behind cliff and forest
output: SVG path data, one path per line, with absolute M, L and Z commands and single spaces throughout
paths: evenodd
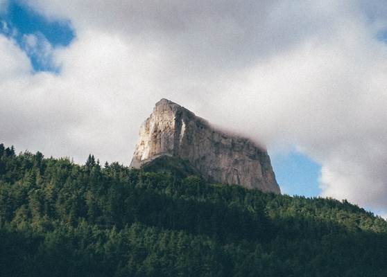
M 283 193 L 387 215 L 385 1 L 0 0 L 0 141 L 128 165 L 168 98 L 264 143 Z

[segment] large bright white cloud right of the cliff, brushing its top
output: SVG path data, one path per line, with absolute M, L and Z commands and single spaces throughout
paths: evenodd
M 322 195 L 386 208 L 387 48 L 355 22 L 337 31 L 255 66 L 216 118 L 240 115 L 232 125 L 272 148 L 298 145 L 322 164 Z

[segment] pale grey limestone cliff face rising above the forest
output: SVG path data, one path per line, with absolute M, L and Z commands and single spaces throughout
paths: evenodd
M 188 161 L 208 181 L 280 193 L 266 150 L 249 139 L 214 129 L 166 99 L 157 102 L 141 125 L 130 166 L 140 168 L 164 155 Z

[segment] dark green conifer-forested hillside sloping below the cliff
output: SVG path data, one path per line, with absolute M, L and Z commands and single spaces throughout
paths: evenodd
M 387 223 L 346 201 L 84 166 L 0 145 L 0 276 L 387 276 Z

